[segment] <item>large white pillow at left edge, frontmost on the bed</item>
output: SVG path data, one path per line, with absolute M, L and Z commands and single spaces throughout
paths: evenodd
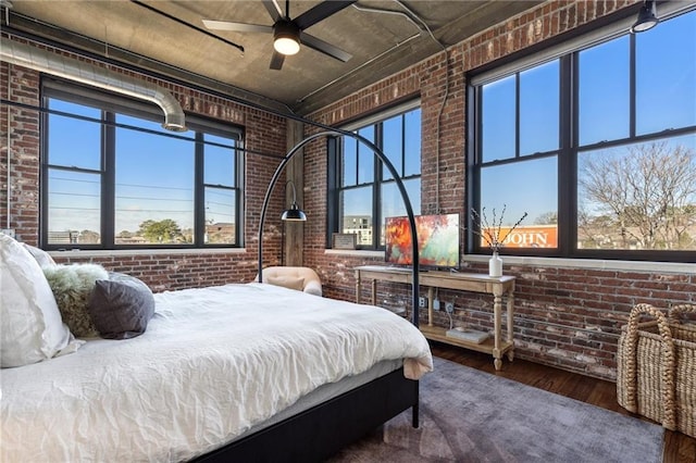
M 72 335 L 41 267 L 29 251 L 3 234 L 0 286 L 0 366 L 28 365 L 78 347 L 71 345 Z

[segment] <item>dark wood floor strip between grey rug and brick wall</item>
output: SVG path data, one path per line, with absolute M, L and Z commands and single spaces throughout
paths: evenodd
M 496 372 L 490 355 L 439 342 L 431 342 L 431 348 L 433 355 L 442 359 L 592 403 L 624 415 L 641 417 L 629 413 L 619 405 L 617 402 L 617 385 L 611 381 L 595 379 L 520 359 L 509 362 L 507 356 L 504 360 L 502 370 Z M 647 418 L 643 420 L 649 421 Z M 666 430 L 662 461 L 663 463 L 696 462 L 696 439 L 682 433 Z

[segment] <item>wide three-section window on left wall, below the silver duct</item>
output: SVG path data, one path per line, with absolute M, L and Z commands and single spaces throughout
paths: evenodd
M 47 249 L 241 246 L 241 130 L 187 116 L 161 127 L 139 101 L 44 83 Z

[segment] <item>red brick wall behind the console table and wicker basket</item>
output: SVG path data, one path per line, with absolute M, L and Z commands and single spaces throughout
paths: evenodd
M 448 65 L 440 52 L 403 72 L 364 88 L 311 115 L 324 124 L 340 125 L 394 102 L 420 97 L 422 108 L 422 213 L 464 213 L 465 204 L 465 72 L 529 46 L 571 30 L 593 20 L 633 4 L 634 1 L 551 1 L 448 49 Z M 448 76 L 449 84 L 445 76 Z M 443 97 L 448 93 L 445 105 Z M 442 111 L 442 113 L 440 113 Z M 308 132 L 312 132 L 310 128 Z M 306 210 L 321 217 L 306 226 L 304 263 L 322 277 L 324 293 L 355 299 L 352 267 L 382 264 L 384 259 L 326 253 L 325 143 L 306 150 Z M 439 185 L 439 189 L 437 189 Z M 439 193 L 436 193 L 439 191 Z M 514 275 L 515 356 L 606 379 L 616 377 L 616 350 L 620 327 L 633 304 L 670 303 L 696 299 L 693 273 L 588 270 L 580 264 L 559 267 L 554 260 L 517 265 Z M 568 261 L 566 261 L 568 262 Z M 465 261 L 467 271 L 486 272 L 484 263 Z M 610 265 L 609 265 L 610 266 Z M 406 285 L 380 283 L 377 301 L 410 306 Z M 363 300 L 369 300 L 363 285 Z M 421 288 L 425 295 L 427 288 Z M 492 329 L 492 298 L 440 290 L 442 301 L 455 302 L 456 320 L 481 329 Z M 421 313 L 421 321 L 426 314 Z M 447 326 L 444 312 L 436 324 Z

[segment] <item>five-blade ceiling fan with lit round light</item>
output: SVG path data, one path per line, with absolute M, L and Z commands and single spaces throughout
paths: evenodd
M 316 51 L 327 54 L 331 58 L 344 63 L 352 58 L 350 53 L 340 50 L 333 45 L 325 42 L 304 32 L 306 28 L 325 20 L 334 13 L 349 7 L 352 1 L 325 0 L 312 9 L 300 14 L 296 18 L 290 18 L 290 1 L 285 1 L 285 14 L 275 0 L 263 0 L 261 3 L 269 11 L 273 18 L 272 26 L 260 24 L 232 23 L 227 21 L 203 20 L 203 24 L 213 30 L 233 30 L 236 33 L 270 33 L 273 34 L 273 57 L 271 58 L 271 68 L 279 70 L 286 55 L 295 54 L 300 50 L 300 43 Z

